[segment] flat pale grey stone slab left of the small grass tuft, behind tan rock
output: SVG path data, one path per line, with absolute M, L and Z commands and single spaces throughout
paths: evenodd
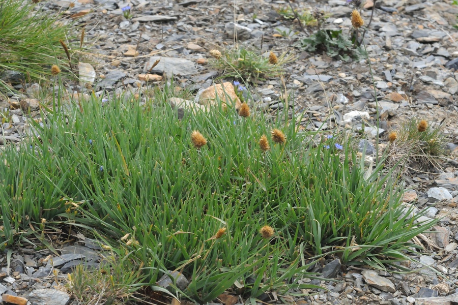
M 159 59 L 159 63 L 151 71 L 150 68 Z M 183 58 L 174 58 L 174 57 L 162 57 L 162 56 L 152 56 L 150 60 L 146 63 L 144 72 L 150 73 L 165 73 L 167 76 L 172 75 L 195 75 L 197 74 L 197 69 L 195 64 L 190 60 Z

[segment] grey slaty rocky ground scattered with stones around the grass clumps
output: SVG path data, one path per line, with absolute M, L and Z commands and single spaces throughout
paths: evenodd
M 353 7 L 345 1 L 292 5 L 300 11 L 324 11 L 329 16 L 323 25 L 326 28 L 343 29 L 346 33 L 351 29 Z M 124 16 L 126 10 L 122 10 L 127 6 L 129 19 Z M 288 2 L 49 0 L 40 7 L 79 16 L 78 23 L 85 27 L 85 40 L 93 44 L 78 67 L 89 85 L 70 83 L 68 88 L 75 99 L 91 89 L 101 99 L 126 91 L 145 98 L 140 88 L 161 85 L 171 74 L 179 86 L 191 88 L 198 95 L 218 76 L 209 65 L 209 50 L 235 45 L 236 22 L 239 45 L 262 54 L 272 50 L 296 57 L 282 68 L 286 88 L 294 96 L 289 111 L 305 112 L 300 122 L 304 130 L 357 126 L 364 116 L 370 116 L 368 120 L 374 123 L 374 88 L 365 60 L 346 63 L 295 47 L 295 42 L 316 28 L 306 28 L 308 33 L 304 33 L 297 22 L 282 18 L 277 10 L 287 8 Z M 368 3 L 362 11 L 366 22 L 370 13 Z M 310 290 L 306 292 L 315 294 L 285 300 L 298 304 L 458 303 L 458 163 L 453 161 L 458 156 L 458 72 L 454 71 L 458 71 L 458 31 L 452 26 L 457 14 L 458 6 L 450 1 L 379 0 L 365 35 L 381 106 L 382 140 L 386 131 L 398 128 L 411 117 L 427 119 L 433 127 L 442 122 L 447 137 L 447 156 L 441 170 L 412 172 L 407 176 L 411 191 L 405 195 L 406 204 L 414 203 L 418 210 L 426 208 L 428 218 L 443 217 L 434 232 L 415 240 L 425 246 L 425 252 L 416 258 L 419 263 L 406 263 L 405 267 L 418 272 L 359 269 L 342 266 L 338 259 L 330 258 L 324 267 L 317 266 L 314 271 L 338 281 L 312 281 L 329 291 Z M 290 37 L 279 35 L 295 32 L 299 33 Z M 158 58 L 160 64 L 149 71 Z M 13 85 L 15 77 L 8 73 L 2 76 Z M 16 88 L 21 89 L 21 85 Z M 2 125 L 0 145 L 19 143 L 26 137 L 28 117 L 38 115 L 34 112 L 38 108 L 34 95 L 38 88 L 38 84 L 27 84 L 22 87 L 23 94 L 0 100 L 0 108 L 9 109 L 11 114 L 11 120 Z M 280 102 L 284 88 L 278 78 L 249 90 L 253 96 L 249 103 L 254 108 L 268 113 L 284 110 Z M 26 114 L 25 109 L 32 113 Z M 374 140 L 376 129 L 366 126 L 365 131 L 366 137 Z M 60 254 L 14 249 L 10 263 L 6 255 L 0 254 L 0 294 L 4 303 L 68 303 L 69 295 L 53 287 L 65 282 L 65 273 L 77 264 L 97 267 L 103 253 L 91 240 L 81 239 L 64 245 Z M 57 275 L 54 268 L 60 270 Z M 263 301 L 275 302 L 273 296 L 265 295 Z M 223 299 L 221 302 L 230 305 L 243 301 L 235 297 Z

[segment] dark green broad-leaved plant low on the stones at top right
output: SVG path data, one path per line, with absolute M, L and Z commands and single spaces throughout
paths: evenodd
M 342 30 L 321 29 L 316 33 L 304 38 L 299 46 L 308 52 L 326 53 L 329 57 L 348 62 L 350 59 L 359 59 L 364 51 L 353 46 L 353 43 L 342 34 Z

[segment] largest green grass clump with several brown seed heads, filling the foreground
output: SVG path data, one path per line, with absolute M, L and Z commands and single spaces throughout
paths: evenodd
M 205 303 L 232 290 L 254 301 L 315 287 L 298 281 L 314 276 L 307 269 L 319 256 L 404 259 L 416 247 L 410 239 L 437 222 L 408 219 L 383 164 L 367 174 L 349 145 L 332 137 L 317 145 L 318 132 L 236 109 L 179 120 L 160 102 L 170 92 L 145 106 L 114 98 L 102 107 L 92 96 L 83 111 L 72 105 L 66 116 L 42 113 L 44 125 L 31 121 L 33 138 L 0 153 L 2 250 L 45 241 L 44 226 L 71 225 L 129 251 L 141 276 L 125 283 L 158 291 L 167 270 L 180 270 L 189 279 L 173 287 L 180 296 Z M 110 284 L 97 276 L 87 281 Z

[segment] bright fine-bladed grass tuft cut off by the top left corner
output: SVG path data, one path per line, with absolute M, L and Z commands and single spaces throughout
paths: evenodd
M 53 64 L 66 66 L 60 40 L 71 37 L 72 23 L 59 22 L 59 15 L 44 14 L 28 1 L 3 1 L 0 7 L 0 71 L 14 71 L 33 80 L 50 76 Z M 11 87 L 0 79 L 0 87 Z

